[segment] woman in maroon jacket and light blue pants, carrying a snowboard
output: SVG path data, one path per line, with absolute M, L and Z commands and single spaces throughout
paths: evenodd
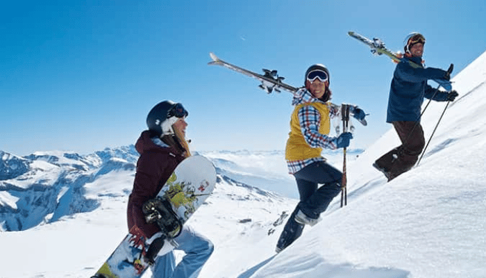
M 154 106 L 146 118 L 149 130 L 143 131 L 135 148 L 140 153 L 133 190 L 128 199 L 128 230 L 138 227 L 146 238 L 156 238 L 160 228 L 156 223 L 147 223 L 142 206 L 156 197 L 176 166 L 190 156 L 185 141 L 185 117 L 189 113 L 182 104 L 162 101 Z M 154 236 L 155 235 L 155 236 Z M 214 247 L 210 240 L 198 234 L 187 224 L 175 239 L 176 250 L 185 252 L 183 260 L 176 265 L 173 252 L 157 256 L 152 266 L 152 277 L 197 277 Z

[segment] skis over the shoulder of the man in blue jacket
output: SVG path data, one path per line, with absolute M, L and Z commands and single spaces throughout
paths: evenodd
M 353 31 L 349 31 L 348 35 L 351 36 L 351 38 L 355 38 L 356 40 L 359 40 L 360 42 L 366 44 L 371 48 L 371 53 L 374 55 L 382 55 L 385 54 L 385 56 L 388 56 L 392 60 L 394 60 L 396 63 L 408 63 L 412 67 L 421 67 L 421 65 L 418 65 L 417 63 L 412 62 L 411 60 L 408 60 L 406 58 L 400 58 L 397 56 L 397 54 L 394 54 L 391 50 L 387 49 L 385 47 L 385 42 L 378 38 L 373 38 L 373 40 L 370 40 L 369 38 L 364 37 L 363 35 L 360 35 L 358 33 L 355 33 Z M 450 81 L 446 81 L 445 79 L 433 79 L 437 84 L 441 85 L 442 88 L 447 90 L 448 92 L 452 90 L 452 85 Z

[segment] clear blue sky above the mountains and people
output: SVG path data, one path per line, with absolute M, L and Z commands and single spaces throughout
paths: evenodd
M 130 145 L 165 99 L 190 112 L 195 150 L 284 149 L 291 95 L 267 95 L 258 81 L 207 65 L 209 52 L 278 70 L 294 86 L 308 66 L 327 65 L 333 102 L 370 114 L 351 145 L 367 147 L 391 128 L 394 64 L 347 32 L 398 51 L 419 31 L 426 66 L 454 63 L 455 75 L 486 50 L 485 14 L 484 1 L 470 0 L 10 1 L 0 10 L 0 150 Z

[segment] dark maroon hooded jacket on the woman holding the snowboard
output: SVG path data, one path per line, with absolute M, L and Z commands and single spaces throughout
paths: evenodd
M 140 153 L 140 158 L 137 161 L 133 190 L 128 197 L 128 230 L 136 225 L 147 238 L 150 238 L 160 229 L 157 224 L 145 222 L 142 206 L 149 199 L 156 197 L 184 157 L 174 147 L 156 145 L 150 138 L 149 131 L 142 132 L 135 149 Z

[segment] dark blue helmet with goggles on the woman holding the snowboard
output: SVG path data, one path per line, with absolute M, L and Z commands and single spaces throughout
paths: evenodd
M 157 136 L 162 136 L 166 133 L 173 133 L 172 124 L 176 122 L 177 118 L 187 117 L 187 115 L 189 113 L 183 108 L 182 104 L 166 100 L 153 106 L 146 117 L 146 125 L 149 127 L 149 131 Z M 167 120 L 170 123 L 167 123 Z

